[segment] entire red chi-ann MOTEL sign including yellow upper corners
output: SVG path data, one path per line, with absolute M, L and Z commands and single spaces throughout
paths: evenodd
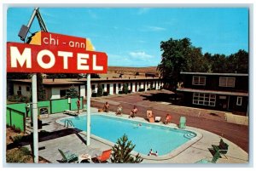
M 107 54 L 91 46 L 85 38 L 40 31 L 30 44 L 7 43 L 7 71 L 107 73 Z

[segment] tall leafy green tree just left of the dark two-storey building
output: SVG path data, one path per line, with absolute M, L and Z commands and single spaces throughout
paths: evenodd
M 165 83 L 176 90 L 177 83 L 180 81 L 180 71 L 187 68 L 187 56 L 191 52 L 191 43 L 189 38 L 179 40 L 169 39 L 166 42 L 160 43 L 162 60 L 157 69 L 163 77 Z

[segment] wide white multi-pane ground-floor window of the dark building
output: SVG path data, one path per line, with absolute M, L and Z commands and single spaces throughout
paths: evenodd
M 215 94 L 203 94 L 194 93 L 193 94 L 193 104 L 194 105 L 209 105 L 215 106 L 216 95 Z

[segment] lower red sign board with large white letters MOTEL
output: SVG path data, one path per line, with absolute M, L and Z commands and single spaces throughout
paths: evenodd
M 7 43 L 7 71 L 107 73 L 108 56 L 84 48 Z

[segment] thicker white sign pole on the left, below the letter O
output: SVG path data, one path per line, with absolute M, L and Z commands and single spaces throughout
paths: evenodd
M 38 163 L 38 94 L 37 74 L 32 74 L 32 123 L 33 123 L 33 151 L 34 162 Z

